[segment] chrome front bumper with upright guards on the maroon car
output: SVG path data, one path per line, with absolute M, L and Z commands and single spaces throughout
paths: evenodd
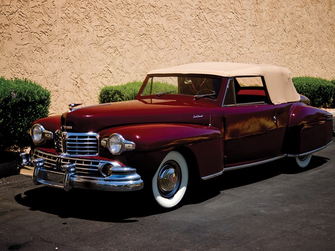
M 87 176 L 77 174 L 75 163 L 63 165 L 63 173 L 46 168 L 44 158 L 30 160 L 27 153 L 21 153 L 21 157 L 23 160 L 18 165 L 18 172 L 21 175 L 32 177 L 35 185 L 46 184 L 63 188 L 65 191 L 72 188 L 104 191 L 133 191 L 143 188 L 143 180 L 134 168 L 115 166 L 112 167 L 110 176 Z

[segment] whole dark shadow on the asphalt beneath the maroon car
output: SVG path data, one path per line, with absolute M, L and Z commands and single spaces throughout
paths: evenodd
M 201 181 L 196 189 L 189 189 L 183 204 L 198 204 L 216 197 L 220 192 L 281 174 L 299 174 L 323 165 L 327 158 L 313 156 L 309 168 L 299 170 L 287 158 L 245 169 L 224 172 L 223 175 Z M 194 187 L 193 187 L 194 188 Z M 150 199 L 149 199 L 150 198 Z M 156 206 L 148 191 L 104 192 L 74 189 L 65 192 L 59 188 L 39 186 L 15 196 L 15 200 L 33 211 L 58 215 L 60 218 L 79 218 L 92 221 L 130 223 L 133 218 L 178 210 L 162 209 Z

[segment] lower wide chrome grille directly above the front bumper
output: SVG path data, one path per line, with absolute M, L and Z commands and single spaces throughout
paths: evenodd
M 47 169 L 51 169 L 57 172 L 64 173 L 62 169 L 63 165 L 69 163 L 76 164 L 76 172 L 81 175 L 94 175 L 101 176 L 98 168 L 99 164 L 102 163 L 100 160 L 92 160 L 92 159 L 76 159 L 72 157 L 61 157 L 52 153 L 42 152 L 39 150 L 35 150 L 34 158 L 43 158 L 44 159 L 44 167 Z

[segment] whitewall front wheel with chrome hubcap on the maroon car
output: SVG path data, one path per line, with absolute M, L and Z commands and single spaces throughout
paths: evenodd
M 183 198 L 188 183 L 185 158 L 170 151 L 161 162 L 152 182 L 156 202 L 165 208 L 176 206 Z

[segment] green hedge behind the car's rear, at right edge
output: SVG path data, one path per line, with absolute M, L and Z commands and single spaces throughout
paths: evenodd
M 317 77 L 292 77 L 299 94 L 309 98 L 315 107 L 334 107 L 335 85 L 326 79 Z

